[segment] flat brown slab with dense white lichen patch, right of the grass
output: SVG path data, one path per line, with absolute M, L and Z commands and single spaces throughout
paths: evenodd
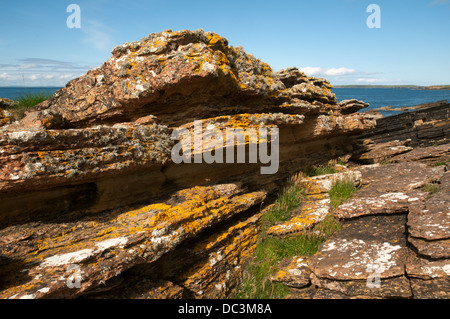
M 346 222 L 319 247 L 309 266 L 331 280 L 403 276 L 407 257 L 405 215 L 369 216 Z

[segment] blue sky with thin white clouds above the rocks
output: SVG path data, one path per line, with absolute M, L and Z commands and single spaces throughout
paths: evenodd
M 67 27 L 70 4 L 79 29 Z M 334 85 L 450 84 L 450 0 L 0 0 L 0 86 L 64 86 L 116 45 L 199 28 Z

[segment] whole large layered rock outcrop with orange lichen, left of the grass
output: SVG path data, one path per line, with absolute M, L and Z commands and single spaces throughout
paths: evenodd
M 267 194 L 353 152 L 375 124 L 354 113 L 365 106 L 214 33 L 167 30 L 115 48 L 0 130 L 0 296 L 228 296 Z M 256 135 L 227 145 L 230 128 Z M 177 145 L 190 151 L 182 163 Z M 252 145 L 257 161 L 228 161 L 230 146 Z M 276 170 L 262 175 L 274 145 Z

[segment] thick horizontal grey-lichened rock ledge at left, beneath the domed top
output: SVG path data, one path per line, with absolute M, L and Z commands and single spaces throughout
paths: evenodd
M 170 133 L 159 124 L 0 132 L 0 191 L 164 165 L 174 145 Z

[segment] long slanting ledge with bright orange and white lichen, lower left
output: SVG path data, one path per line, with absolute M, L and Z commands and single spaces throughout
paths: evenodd
M 1 298 L 73 298 L 138 264 L 150 263 L 183 240 L 260 203 L 264 193 L 235 185 L 180 191 L 166 203 L 75 222 L 11 226 L 0 246 Z M 15 238 L 14 235 L 16 234 Z M 12 236 L 11 236 L 12 235 Z M 67 286 L 71 265 L 80 289 Z M 17 274 L 24 272 L 18 278 Z

